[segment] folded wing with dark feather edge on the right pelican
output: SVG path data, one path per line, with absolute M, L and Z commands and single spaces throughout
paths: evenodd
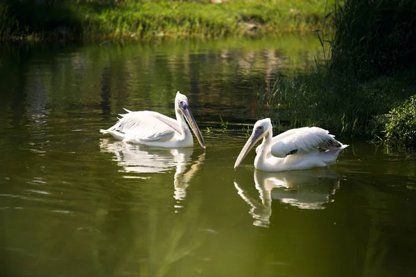
M 270 154 L 284 158 L 288 154 L 306 154 L 308 152 L 335 150 L 341 148 L 343 143 L 333 139 L 333 135 L 319 127 L 302 127 L 290 129 L 272 139 Z

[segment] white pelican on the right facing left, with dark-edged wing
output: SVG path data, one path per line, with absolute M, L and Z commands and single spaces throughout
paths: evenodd
M 338 154 L 348 146 L 336 141 L 327 130 L 319 127 L 290 129 L 272 136 L 270 118 L 257 121 L 252 135 L 236 159 L 234 170 L 260 139 L 263 139 L 263 142 L 256 148 L 254 168 L 267 172 L 329 168 L 335 163 Z M 320 149 L 326 151 L 322 152 Z

